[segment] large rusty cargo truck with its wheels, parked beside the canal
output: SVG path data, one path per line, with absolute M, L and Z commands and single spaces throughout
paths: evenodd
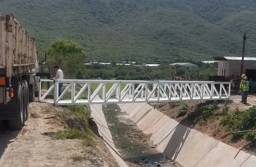
M 38 92 L 38 51 L 13 15 L 0 14 L 0 120 L 21 129 Z M 46 56 L 45 56 L 46 60 Z M 47 75 L 46 75 L 47 76 Z

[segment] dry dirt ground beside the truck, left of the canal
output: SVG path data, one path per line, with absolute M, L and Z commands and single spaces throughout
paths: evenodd
M 100 138 L 96 146 L 85 147 L 80 140 L 54 140 L 44 135 L 63 129 L 54 114 L 62 110 L 50 104 L 30 103 L 30 115 L 21 131 L 0 131 L 1 167 L 118 167 Z M 86 156 L 74 162 L 71 157 Z

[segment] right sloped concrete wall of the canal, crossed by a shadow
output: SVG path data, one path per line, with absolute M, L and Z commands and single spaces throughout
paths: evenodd
M 160 152 L 183 167 L 256 166 L 256 156 L 179 124 L 147 103 L 118 105 Z

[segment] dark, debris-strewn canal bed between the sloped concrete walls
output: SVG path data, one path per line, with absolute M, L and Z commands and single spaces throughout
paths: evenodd
M 104 104 L 102 111 L 111 131 L 113 142 L 123 159 L 140 166 L 181 167 L 162 155 L 126 112 L 117 104 Z

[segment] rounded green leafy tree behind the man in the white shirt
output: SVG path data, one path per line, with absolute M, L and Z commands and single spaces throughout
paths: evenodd
M 52 68 L 58 65 L 69 79 L 74 79 L 86 62 L 84 48 L 71 40 L 54 41 L 47 53 L 47 64 Z

